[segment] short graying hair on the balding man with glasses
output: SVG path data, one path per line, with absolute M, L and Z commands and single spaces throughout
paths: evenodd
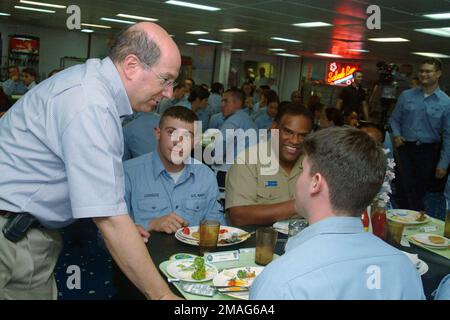
M 114 62 L 122 62 L 129 54 L 136 55 L 141 62 L 152 67 L 159 61 L 161 49 L 145 31 L 129 28 L 117 37 L 109 57 Z

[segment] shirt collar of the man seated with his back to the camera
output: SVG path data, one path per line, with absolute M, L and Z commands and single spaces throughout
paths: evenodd
M 323 234 L 356 234 L 365 232 L 358 217 L 330 217 L 316 222 L 289 239 L 286 252 Z

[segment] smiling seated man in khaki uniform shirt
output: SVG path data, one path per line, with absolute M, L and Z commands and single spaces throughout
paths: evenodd
M 312 115 L 290 103 L 275 117 L 277 143 L 261 141 L 242 152 L 226 176 L 225 208 L 233 225 L 265 225 L 296 215 L 295 182 L 302 172 L 302 143 L 311 132 Z M 263 164 L 260 149 L 270 153 L 272 163 Z M 250 162 L 249 155 L 258 155 Z M 246 156 L 246 159 L 241 157 Z M 264 161 L 265 163 L 266 161 Z

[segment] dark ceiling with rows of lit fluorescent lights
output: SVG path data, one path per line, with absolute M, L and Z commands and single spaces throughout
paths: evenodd
M 40 0 L 37 0 L 40 1 Z M 197 42 L 200 37 L 221 40 L 232 48 L 243 48 L 254 53 L 267 53 L 268 48 L 285 48 L 291 53 L 310 56 L 314 52 L 328 52 L 353 59 L 411 60 L 420 57 L 414 51 L 450 54 L 450 38 L 427 35 L 415 28 L 450 27 L 450 20 L 431 20 L 427 13 L 450 12 L 450 0 L 191 0 L 192 2 L 219 7 L 222 10 L 208 12 L 177 7 L 158 0 L 44 0 L 54 4 L 77 4 L 81 8 L 82 22 L 106 24 L 111 30 L 95 29 L 99 33 L 116 33 L 125 24 L 101 21 L 101 17 L 115 17 L 118 13 L 157 18 L 179 44 Z M 0 12 L 10 17 L 0 17 L 0 23 L 31 24 L 36 26 L 66 28 L 68 15 L 65 9 L 56 14 L 18 10 L 19 0 L 1 0 Z M 36 8 L 44 8 L 33 5 Z M 379 5 L 381 30 L 368 30 L 366 8 Z M 124 18 L 118 18 L 124 19 Z M 298 28 L 293 23 L 322 21 L 330 27 Z M 220 32 L 223 28 L 241 28 L 244 33 Z M 208 35 L 196 36 L 187 31 L 203 30 Z M 278 36 L 301 40 L 287 43 L 271 40 Z M 372 37 L 402 37 L 411 40 L 404 43 L 375 43 Z M 369 53 L 352 53 L 349 49 L 366 49 Z

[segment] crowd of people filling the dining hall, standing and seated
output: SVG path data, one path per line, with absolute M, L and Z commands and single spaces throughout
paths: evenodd
M 408 184 L 418 202 L 426 179 L 443 181 L 450 161 L 450 99 L 438 87 L 439 63 L 421 64 L 421 86 L 400 96 L 391 118 L 402 167 L 411 161 L 411 179 L 423 171 L 424 184 Z M 0 119 L 0 227 L 29 225 L 0 234 L 0 299 L 56 298 L 57 230 L 75 219 L 93 219 L 147 298 L 178 299 L 144 245 L 149 232 L 172 234 L 203 219 L 244 226 L 298 216 L 310 226 L 257 278 L 252 299 L 424 299 L 408 258 L 361 224 L 386 172 L 383 130 L 350 125 L 353 113 L 369 120 L 361 71 L 337 105 L 325 107 L 317 97 L 303 106 L 299 91 L 280 101 L 263 79 L 229 89 L 176 83 L 180 64 L 164 29 L 138 23 L 108 57 L 41 82 Z M 32 76 L 23 78 L 28 87 Z M 17 74 L 10 80 L 17 83 Z M 193 152 L 207 130 L 222 137 L 212 142 L 211 163 Z M 237 131 L 267 139 L 241 143 Z M 255 150 L 273 161 L 247 161 Z M 432 161 L 424 160 L 430 150 Z M 381 287 L 367 285 L 373 265 Z

